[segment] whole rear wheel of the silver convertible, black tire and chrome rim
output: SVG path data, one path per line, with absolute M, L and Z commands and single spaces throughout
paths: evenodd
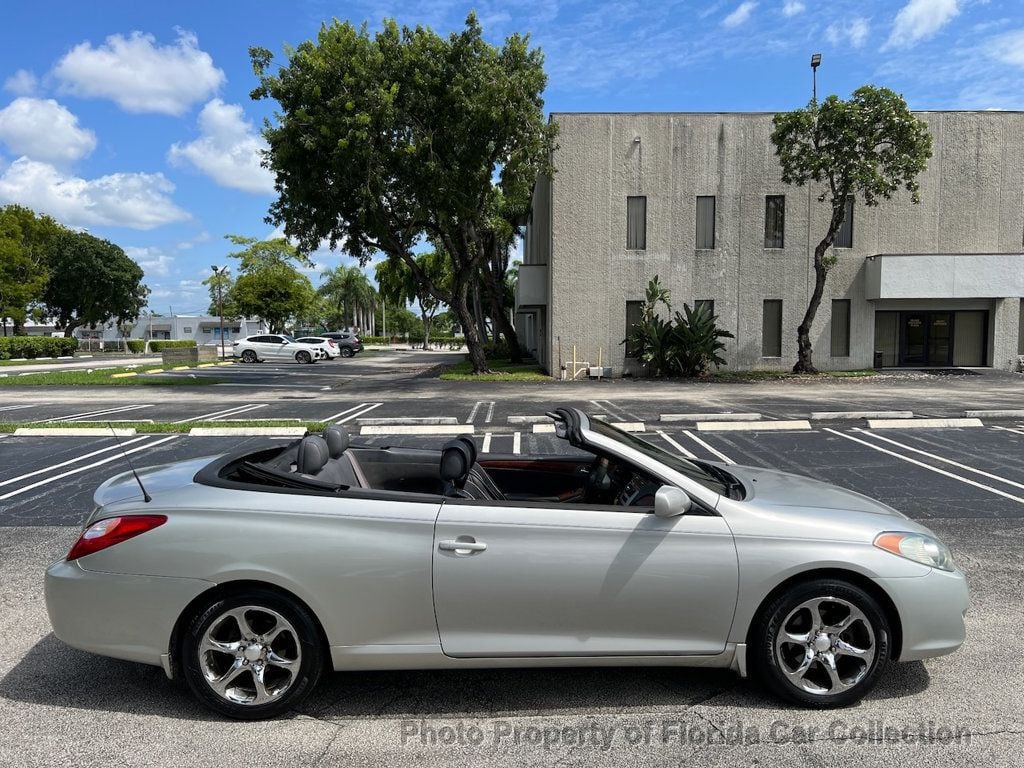
M 298 707 L 319 681 L 325 658 L 305 607 L 252 589 L 216 598 L 196 613 L 180 662 L 204 705 L 229 718 L 263 720 Z

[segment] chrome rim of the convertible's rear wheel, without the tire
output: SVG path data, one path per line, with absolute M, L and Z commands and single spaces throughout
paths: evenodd
M 295 682 L 302 650 L 281 613 L 244 605 L 222 613 L 199 643 L 199 667 L 210 689 L 240 705 L 265 705 Z

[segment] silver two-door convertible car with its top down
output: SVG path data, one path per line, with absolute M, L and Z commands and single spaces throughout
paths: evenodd
M 964 574 L 891 507 L 550 416 L 569 455 L 330 427 L 114 477 L 46 571 L 54 632 L 252 719 L 329 670 L 471 667 L 718 667 L 839 707 L 964 641 Z

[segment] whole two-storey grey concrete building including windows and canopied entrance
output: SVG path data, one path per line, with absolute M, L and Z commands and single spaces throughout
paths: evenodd
M 820 369 L 994 367 L 1024 354 L 1024 113 L 924 112 L 921 204 L 851 198 L 812 329 Z M 786 370 L 829 206 L 782 183 L 770 113 L 554 114 L 516 327 L 552 373 L 642 374 L 622 344 L 655 274 L 676 308 L 707 304 L 735 335 L 732 370 Z

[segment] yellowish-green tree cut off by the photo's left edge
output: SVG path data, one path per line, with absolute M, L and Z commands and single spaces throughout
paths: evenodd
M 29 311 L 46 290 L 49 250 L 62 230 L 49 216 L 28 208 L 0 208 L 0 319 L 4 334 L 8 317 L 15 336 L 24 332 Z

